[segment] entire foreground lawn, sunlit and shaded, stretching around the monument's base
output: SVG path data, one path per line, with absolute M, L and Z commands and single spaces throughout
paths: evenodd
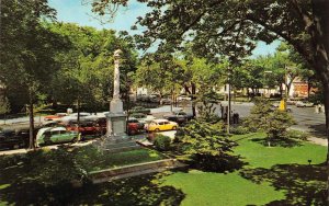
M 31 168 L 37 162 L 0 157 L 0 205 L 325 205 L 326 169 L 321 163 L 327 148 L 300 141 L 276 142 L 281 146 L 269 148 L 263 137 L 262 134 L 232 137 L 239 144 L 235 152 L 245 165 L 231 173 L 188 169 L 80 188 L 61 183 L 47 185 L 47 179 L 36 181 L 32 175 L 41 171 Z M 160 157 L 157 152 L 138 152 L 113 156 L 112 160 L 105 158 L 103 165 L 112 162 L 112 167 L 117 167 Z M 59 154 L 58 160 L 47 165 L 55 164 L 69 174 L 65 171 L 68 168 L 65 157 Z M 82 164 L 89 161 L 90 168 L 102 164 L 97 163 L 93 152 L 80 157 L 79 161 Z M 15 164 L 9 165 L 10 162 Z

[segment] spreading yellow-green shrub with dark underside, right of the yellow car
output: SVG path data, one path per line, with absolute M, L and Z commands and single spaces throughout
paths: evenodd
M 232 157 L 231 148 L 237 145 L 226 136 L 223 123 L 209 124 L 200 119 L 180 127 L 174 141 L 183 153 L 191 154 L 192 165 L 208 171 L 225 170 L 229 162 L 226 160 Z

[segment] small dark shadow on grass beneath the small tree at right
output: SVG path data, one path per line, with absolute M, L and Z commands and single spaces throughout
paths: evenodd
M 269 146 L 269 141 L 266 138 L 253 138 L 251 141 L 261 144 L 263 146 Z M 299 140 L 295 139 L 290 139 L 290 138 L 271 138 L 270 140 L 271 147 L 285 147 L 285 148 L 291 148 L 291 147 L 299 147 L 303 146 Z

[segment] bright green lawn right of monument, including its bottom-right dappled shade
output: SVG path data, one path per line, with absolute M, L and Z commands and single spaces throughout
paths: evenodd
M 243 169 L 227 174 L 177 172 L 163 185 L 185 194 L 182 205 L 309 205 L 325 198 L 326 170 L 318 164 L 326 159 L 326 147 L 295 142 L 269 148 L 258 140 L 263 137 L 232 137 L 239 144 L 236 153 L 248 163 Z

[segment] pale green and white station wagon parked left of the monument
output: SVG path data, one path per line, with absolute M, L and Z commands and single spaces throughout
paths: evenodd
M 66 130 L 65 127 L 41 128 L 36 135 L 36 146 L 70 142 L 80 140 L 78 131 Z

